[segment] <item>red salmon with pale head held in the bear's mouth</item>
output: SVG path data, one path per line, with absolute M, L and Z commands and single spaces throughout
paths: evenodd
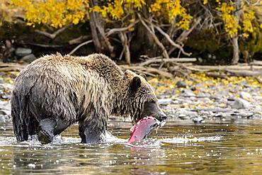
M 162 120 L 161 122 L 152 116 L 147 116 L 142 118 L 135 124 L 130 131 L 132 132 L 131 137 L 127 140 L 127 142 L 135 142 L 139 140 L 143 140 L 147 138 L 152 130 L 159 129 L 163 127 L 166 123 L 166 120 Z

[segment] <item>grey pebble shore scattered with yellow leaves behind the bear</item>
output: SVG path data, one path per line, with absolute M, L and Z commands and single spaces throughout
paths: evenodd
M 11 122 L 10 98 L 17 74 L 0 72 L 0 123 Z M 262 119 L 262 89 L 255 77 L 220 79 L 198 72 L 189 78 L 149 78 L 149 83 L 169 118 L 193 123 Z

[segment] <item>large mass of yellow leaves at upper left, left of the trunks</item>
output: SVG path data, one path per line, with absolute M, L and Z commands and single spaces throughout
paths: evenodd
M 29 26 L 47 23 L 54 28 L 62 28 L 69 23 L 77 24 L 86 18 L 89 9 L 89 1 L 78 0 L 11 0 L 12 6 L 23 7 L 25 20 Z

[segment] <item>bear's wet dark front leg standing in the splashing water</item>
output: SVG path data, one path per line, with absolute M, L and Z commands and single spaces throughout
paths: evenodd
M 79 121 L 79 135 L 81 143 L 98 144 L 101 134 L 106 133 L 106 120 L 90 118 Z

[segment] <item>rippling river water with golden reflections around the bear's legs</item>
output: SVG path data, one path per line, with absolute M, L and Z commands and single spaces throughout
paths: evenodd
M 169 119 L 146 140 L 124 143 L 131 127 L 110 120 L 112 135 L 85 145 L 73 125 L 41 145 L 17 143 L 11 124 L 0 124 L 0 174 L 262 174 L 262 120 Z

